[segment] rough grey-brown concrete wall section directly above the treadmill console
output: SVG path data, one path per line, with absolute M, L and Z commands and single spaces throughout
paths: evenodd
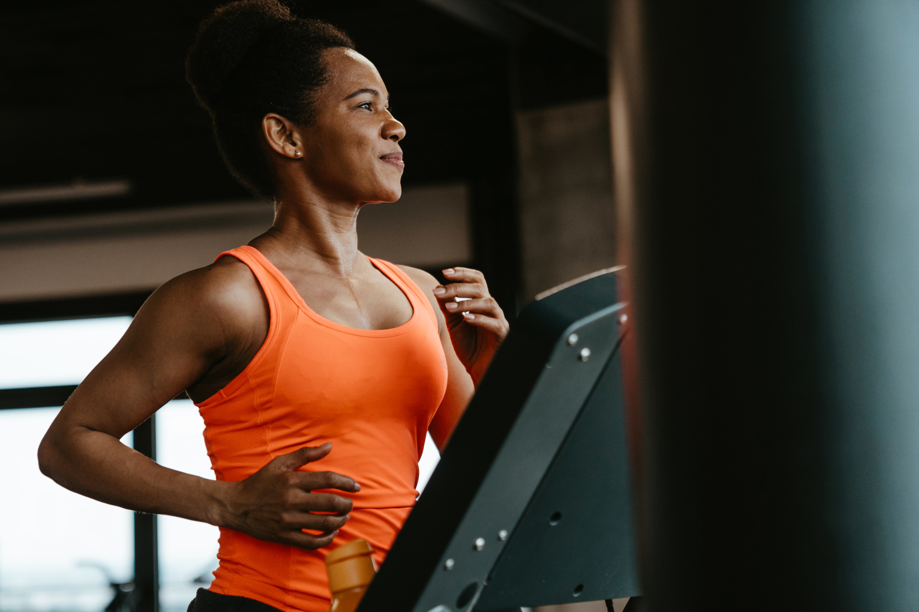
M 607 100 L 517 115 L 524 302 L 616 265 Z

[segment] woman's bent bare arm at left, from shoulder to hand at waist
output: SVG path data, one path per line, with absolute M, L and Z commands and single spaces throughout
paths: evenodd
M 170 470 L 119 441 L 183 390 L 200 401 L 229 382 L 264 341 L 267 318 L 255 278 L 232 258 L 165 284 L 54 419 L 39 448 L 41 472 L 76 493 L 132 510 L 309 549 L 331 542 L 351 502 L 310 491 L 359 485 L 335 473 L 296 471 L 331 445 L 278 457 L 244 481 L 225 483 Z

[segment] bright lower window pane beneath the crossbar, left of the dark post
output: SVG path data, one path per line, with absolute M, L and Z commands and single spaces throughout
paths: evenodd
M 112 599 L 108 578 L 134 573 L 134 513 L 39 472 L 39 442 L 59 409 L 0 410 L 0 610 L 97 612 Z M 121 441 L 130 446 L 130 434 Z

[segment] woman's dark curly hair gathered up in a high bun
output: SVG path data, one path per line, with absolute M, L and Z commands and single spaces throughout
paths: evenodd
M 186 60 L 186 80 L 210 113 L 217 147 L 233 176 L 257 196 L 275 185 L 261 149 L 262 117 L 308 126 L 328 81 L 323 50 L 354 49 L 342 30 L 300 19 L 278 0 L 242 0 L 204 19 Z

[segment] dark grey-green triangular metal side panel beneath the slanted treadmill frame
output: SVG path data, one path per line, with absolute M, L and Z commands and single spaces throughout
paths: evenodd
M 508 540 L 477 610 L 641 593 L 621 370 L 616 351 Z

